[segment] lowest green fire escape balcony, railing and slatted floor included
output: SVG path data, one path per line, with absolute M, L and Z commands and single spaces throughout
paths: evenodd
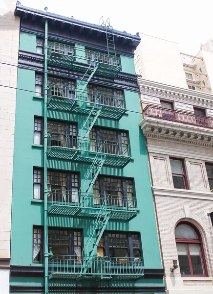
M 86 272 L 83 266 L 85 262 L 88 263 Z M 49 279 L 136 280 L 144 276 L 143 259 L 53 255 L 48 261 L 48 275 Z

